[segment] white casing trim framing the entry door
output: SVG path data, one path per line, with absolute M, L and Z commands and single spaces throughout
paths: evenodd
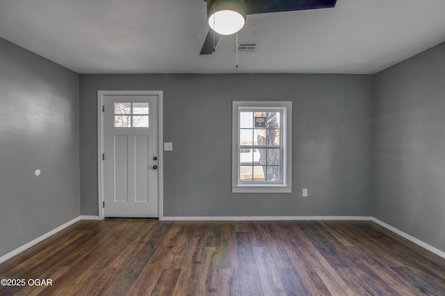
M 97 175 L 98 175 L 98 216 L 99 220 L 104 219 L 104 160 L 102 159 L 104 153 L 104 99 L 106 96 L 134 96 L 147 95 L 157 96 L 158 98 L 158 137 L 159 137 L 159 220 L 163 220 L 163 91 L 111 91 L 99 90 L 97 91 Z

